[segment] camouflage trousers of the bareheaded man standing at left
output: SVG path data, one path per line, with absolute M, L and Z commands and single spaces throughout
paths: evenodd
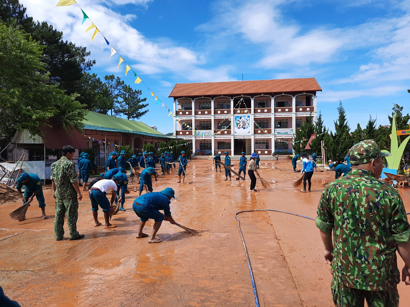
M 75 199 L 56 199 L 55 219 L 54 219 L 54 237 L 61 240 L 64 236 L 64 216 L 67 213 L 67 226 L 70 231 L 70 239 L 76 238 L 78 218 L 78 200 Z

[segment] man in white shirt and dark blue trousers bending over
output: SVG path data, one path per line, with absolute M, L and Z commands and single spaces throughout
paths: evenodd
M 117 191 L 117 184 L 113 180 L 103 179 L 97 181 L 92 188 L 90 188 L 90 200 L 94 217 L 94 227 L 100 226 L 98 221 L 98 205 L 103 209 L 104 220 L 106 225 L 104 228 L 115 228 L 114 224 L 110 223 L 110 209 L 115 200 L 115 193 Z M 111 201 L 107 198 L 107 193 L 111 193 Z

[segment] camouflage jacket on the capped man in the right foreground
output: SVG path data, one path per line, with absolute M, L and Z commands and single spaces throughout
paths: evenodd
M 353 170 L 328 184 L 317 209 L 316 226 L 333 231 L 332 288 L 384 291 L 400 282 L 397 243 L 410 238 L 400 194 L 370 171 Z

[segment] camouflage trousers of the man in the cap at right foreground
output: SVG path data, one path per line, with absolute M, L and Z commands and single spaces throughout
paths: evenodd
M 337 290 L 332 289 L 332 295 L 336 307 L 363 307 L 364 300 L 366 300 L 368 307 L 399 306 L 397 287 L 386 291 L 366 291 L 339 284 Z

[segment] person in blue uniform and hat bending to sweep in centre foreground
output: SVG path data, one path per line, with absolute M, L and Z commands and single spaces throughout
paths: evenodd
M 175 224 L 170 209 L 171 198 L 175 198 L 174 190 L 171 188 L 165 188 L 160 192 L 144 194 L 135 199 L 132 209 L 140 220 L 137 239 L 150 237 L 148 243 L 162 242 L 162 239 L 155 236 L 161 227 L 162 221 L 165 220 L 171 224 Z M 159 212 L 160 210 L 163 210 L 163 213 Z M 148 235 L 142 232 L 142 230 L 145 227 L 145 223 L 150 218 L 152 218 L 155 223 L 151 235 Z

